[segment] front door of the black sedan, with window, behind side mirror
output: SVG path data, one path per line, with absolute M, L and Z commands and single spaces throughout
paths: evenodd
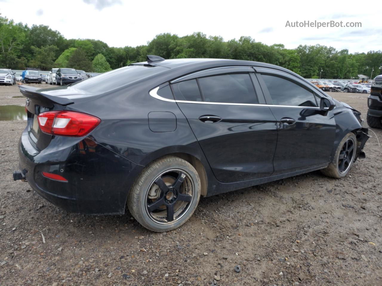
M 265 68 L 256 71 L 278 125 L 274 175 L 328 164 L 336 125 L 333 112 L 319 108 L 323 95 L 285 72 Z

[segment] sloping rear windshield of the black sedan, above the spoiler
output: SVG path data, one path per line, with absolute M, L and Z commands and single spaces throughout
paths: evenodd
M 89 77 L 72 84 L 76 89 L 87 92 L 107 92 L 145 77 L 152 76 L 161 71 L 168 70 L 166 67 L 126 66 L 113 71 L 105 72 L 95 77 Z

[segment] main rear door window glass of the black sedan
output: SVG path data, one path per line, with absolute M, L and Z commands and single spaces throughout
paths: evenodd
M 207 102 L 259 103 L 248 73 L 202 77 L 198 82 Z

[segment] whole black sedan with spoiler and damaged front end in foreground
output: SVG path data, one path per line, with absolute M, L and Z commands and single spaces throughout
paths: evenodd
M 15 180 L 78 214 L 168 231 L 200 196 L 364 157 L 360 112 L 279 66 L 147 56 L 70 86 L 20 86 L 28 124 Z

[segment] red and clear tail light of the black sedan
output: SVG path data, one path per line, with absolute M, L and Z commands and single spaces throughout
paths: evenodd
M 37 118 L 42 132 L 74 137 L 86 135 L 101 122 L 98 117 L 74 111 L 47 111 Z

